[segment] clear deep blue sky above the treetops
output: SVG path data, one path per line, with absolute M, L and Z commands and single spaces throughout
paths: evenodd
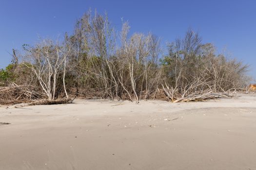
M 123 17 L 131 32 L 152 32 L 163 45 L 191 27 L 203 42 L 251 64 L 256 78 L 256 0 L 0 0 L 0 68 L 12 48 L 72 33 L 89 8 L 106 11 L 117 28 Z

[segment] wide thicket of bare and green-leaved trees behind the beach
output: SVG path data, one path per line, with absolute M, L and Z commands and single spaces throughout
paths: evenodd
M 23 96 L 28 99 L 79 96 L 139 102 L 166 95 L 177 101 L 248 84 L 247 65 L 217 55 L 214 46 L 202 44 L 192 30 L 169 44 L 168 54 L 161 56 L 156 35 L 130 35 L 129 29 L 124 22 L 118 32 L 106 15 L 88 12 L 63 42 L 24 44 L 23 54 L 13 51 L 12 64 L 0 70 L 0 94 L 7 85 L 22 85 L 30 90 Z

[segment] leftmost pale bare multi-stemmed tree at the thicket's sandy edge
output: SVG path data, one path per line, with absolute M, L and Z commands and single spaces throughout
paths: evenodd
M 47 95 L 48 100 L 56 99 L 56 86 L 59 73 L 63 71 L 63 86 L 65 88 L 66 58 L 69 50 L 64 50 L 52 40 L 43 40 L 41 44 L 31 48 L 24 56 L 25 66 L 30 68 L 36 75 L 39 85 Z

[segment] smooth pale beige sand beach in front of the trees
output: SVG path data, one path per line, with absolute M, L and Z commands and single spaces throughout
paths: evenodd
M 252 94 L 0 107 L 0 122 L 0 170 L 256 170 Z

